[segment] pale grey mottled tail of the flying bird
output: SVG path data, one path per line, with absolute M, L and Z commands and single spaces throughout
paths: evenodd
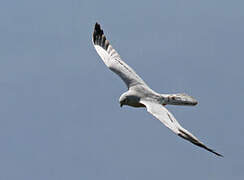
M 197 100 L 192 96 L 189 96 L 185 93 L 178 94 L 161 94 L 164 101 L 164 105 L 185 105 L 185 106 L 195 106 L 197 105 Z

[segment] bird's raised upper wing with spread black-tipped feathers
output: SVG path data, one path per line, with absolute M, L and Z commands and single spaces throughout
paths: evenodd
M 136 72 L 121 60 L 119 54 L 106 39 L 103 30 L 98 23 L 95 24 L 92 42 L 106 66 L 122 78 L 128 89 L 138 84 L 145 85 L 145 82 L 136 74 Z

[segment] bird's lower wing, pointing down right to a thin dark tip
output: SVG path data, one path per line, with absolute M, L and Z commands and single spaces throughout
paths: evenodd
M 150 101 L 140 101 L 147 108 L 147 111 L 159 119 L 166 127 L 171 129 L 178 136 L 190 141 L 191 143 L 200 146 L 217 156 L 222 156 L 221 154 L 215 152 L 214 150 L 205 146 L 201 141 L 199 141 L 193 134 L 189 131 L 181 127 L 181 125 L 177 122 L 175 117 L 161 104 L 150 102 Z

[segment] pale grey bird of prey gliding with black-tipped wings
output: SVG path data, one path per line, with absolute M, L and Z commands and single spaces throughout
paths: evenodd
M 147 111 L 160 120 L 166 127 L 178 136 L 200 146 L 217 156 L 221 154 L 205 146 L 193 134 L 184 129 L 175 117 L 165 108 L 165 105 L 190 105 L 194 106 L 197 101 L 187 94 L 159 94 L 153 91 L 136 72 L 120 58 L 117 51 L 106 39 L 100 24 L 96 23 L 93 36 L 93 45 L 105 65 L 115 72 L 125 82 L 128 91 L 120 98 L 120 106 L 146 107 Z

